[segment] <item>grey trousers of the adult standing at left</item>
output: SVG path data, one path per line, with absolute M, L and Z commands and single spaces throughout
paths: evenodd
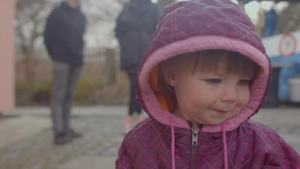
M 70 130 L 70 111 L 82 66 L 53 62 L 51 117 L 54 134 Z

